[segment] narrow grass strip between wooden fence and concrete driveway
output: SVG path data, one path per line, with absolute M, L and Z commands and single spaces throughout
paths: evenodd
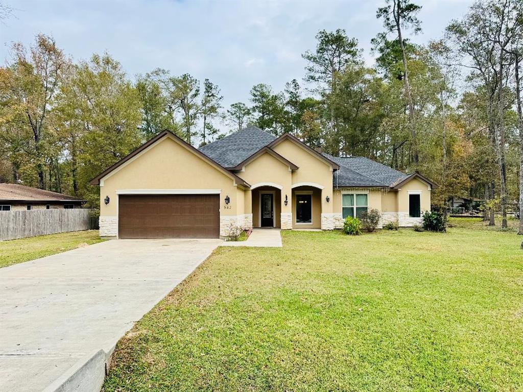
M 98 236 L 98 230 L 0 241 L 0 268 L 71 250 L 80 244 L 91 245 L 101 241 L 103 239 Z

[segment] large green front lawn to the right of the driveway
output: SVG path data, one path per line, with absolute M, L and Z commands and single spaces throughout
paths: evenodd
M 515 234 L 282 237 L 217 249 L 119 342 L 103 390 L 523 390 Z

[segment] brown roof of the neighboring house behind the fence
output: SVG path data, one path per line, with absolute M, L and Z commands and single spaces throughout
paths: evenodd
M 67 194 L 26 187 L 19 184 L 0 183 L 0 203 L 2 202 L 85 202 Z

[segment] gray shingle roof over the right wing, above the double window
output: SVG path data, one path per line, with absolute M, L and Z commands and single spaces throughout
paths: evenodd
M 340 166 L 340 169 L 334 172 L 335 187 L 390 187 L 408 177 L 401 171 L 368 158 L 324 155 Z

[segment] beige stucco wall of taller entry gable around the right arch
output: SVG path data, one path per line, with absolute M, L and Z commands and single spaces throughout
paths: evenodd
M 333 203 L 327 203 L 325 200 L 326 196 L 333 199 L 332 167 L 291 140 L 284 140 L 272 149 L 299 167 L 298 170 L 292 172 L 292 185 L 311 182 L 323 187 L 320 199 L 321 213 L 332 214 Z M 294 210 L 293 207 L 292 213 L 295 212 Z

